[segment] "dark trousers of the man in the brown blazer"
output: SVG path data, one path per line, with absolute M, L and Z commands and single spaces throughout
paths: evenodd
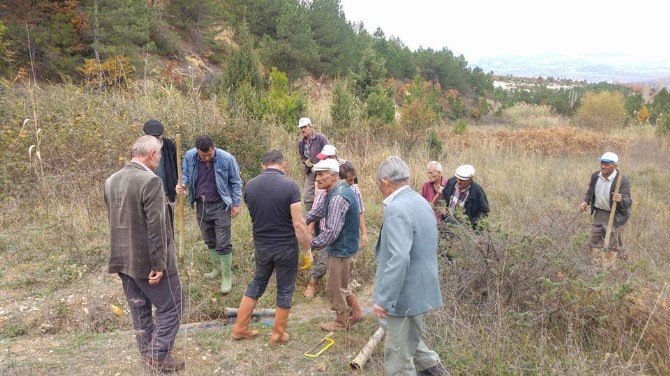
M 140 355 L 165 359 L 172 350 L 182 317 L 182 290 L 177 273 L 163 276 L 157 285 L 119 273 L 133 318 Z M 156 307 L 156 319 L 152 314 Z

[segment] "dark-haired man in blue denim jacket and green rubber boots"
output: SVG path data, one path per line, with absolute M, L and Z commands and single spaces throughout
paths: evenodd
M 184 195 L 188 188 L 213 265 L 205 278 L 221 275 L 221 292 L 227 294 L 232 289 L 230 220 L 240 214 L 242 200 L 240 169 L 235 157 L 216 148 L 208 136 L 195 140 L 195 148 L 184 154 L 182 166 L 183 185 L 177 185 L 177 193 Z

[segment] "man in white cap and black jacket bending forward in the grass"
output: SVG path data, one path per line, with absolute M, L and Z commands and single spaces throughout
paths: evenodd
M 472 165 L 462 165 L 456 169 L 453 177 L 447 180 L 447 184 L 442 190 L 442 197 L 447 202 L 449 214 L 445 221 L 453 221 L 453 214 L 456 210 L 462 210 L 470 219 L 472 228 L 477 227 L 477 223 L 482 217 L 489 213 L 489 201 L 486 198 L 486 192 L 481 185 L 473 181 L 475 168 Z

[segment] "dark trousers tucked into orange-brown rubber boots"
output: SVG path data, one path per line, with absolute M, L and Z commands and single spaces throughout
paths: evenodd
M 258 300 L 275 271 L 277 277 L 277 307 L 290 309 L 295 278 L 298 275 L 298 244 L 264 245 L 256 244 L 256 272 L 244 294 Z

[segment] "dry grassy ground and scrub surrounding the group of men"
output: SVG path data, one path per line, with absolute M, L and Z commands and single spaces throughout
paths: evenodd
M 667 137 L 647 128 L 576 128 L 534 106 L 465 127 L 440 123 L 419 131 L 355 120 L 342 130 L 330 119 L 330 92 L 319 93 L 305 115 L 357 166 L 372 245 L 383 211 L 374 171 L 384 158 L 402 156 L 412 186 L 420 187 L 436 152 L 426 142 L 434 131 L 447 175 L 463 163 L 477 169 L 492 208 L 488 229 L 458 231 L 441 244 L 454 261 L 440 260 L 445 307 L 429 315 L 426 332 L 454 374 L 670 372 Z M 110 307 L 127 311 L 118 278 L 106 272 L 102 183 L 129 159 L 146 119 L 161 119 L 169 137 L 180 133 L 184 151 L 195 135 L 213 135 L 236 155 L 245 179 L 257 173 L 260 152 L 278 148 L 289 156 L 288 175 L 301 180 L 297 129 L 231 115 L 216 97 L 146 82 L 109 91 L 4 88 L 0 100 L 0 374 L 144 372 L 130 317 Z M 625 233 L 631 260 L 614 271 L 589 264 L 588 218 L 577 210 L 605 150 L 620 154 L 634 199 Z M 208 268 L 205 247 L 193 211 L 186 212 L 184 322 L 209 322 L 224 306 L 237 306 L 252 276 L 251 224 L 246 210 L 233 223 L 234 290 L 222 297 L 201 277 Z M 357 273 L 370 308 L 372 246 L 358 257 Z M 307 359 L 301 354 L 325 334 L 318 323 L 330 312 L 323 296 L 302 297 L 306 276 L 300 278 L 287 346 L 269 348 L 263 322 L 264 337 L 241 344 L 230 340 L 225 325 L 185 331 L 176 352 L 187 358 L 188 374 L 347 374 L 346 363 L 374 332 L 375 320 L 337 333 L 323 357 Z M 261 307 L 273 307 L 272 294 L 271 287 Z M 381 374 L 381 361 L 377 352 L 366 374 Z

